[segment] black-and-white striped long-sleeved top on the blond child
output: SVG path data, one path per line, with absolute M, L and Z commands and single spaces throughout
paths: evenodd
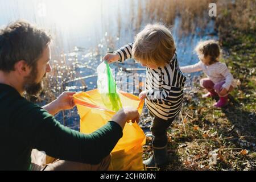
M 133 44 L 128 44 L 115 53 L 119 55 L 119 62 L 130 59 Z M 180 71 L 177 55 L 164 67 L 147 68 L 146 97 L 147 109 L 156 117 L 168 120 L 179 114 L 183 102 L 183 88 L 186 77 Z

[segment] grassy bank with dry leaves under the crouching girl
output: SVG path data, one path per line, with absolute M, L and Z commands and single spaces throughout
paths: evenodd
M 234 16 L 239 11 L 228 8 L 221 9 L 216 28 L 224 49 L 221 61 L 238 80 L 238 87 L 229 95 L 229 105 L 216 109 L 217 100 L 201 98 L 205 90 L 199 86 L 200 77 L 194 79 L 185 94 L 183 122 L 177 119 L 168 130 L 170 164 L 161 170 L 256 169 L 255 18 L 248 10 L 250 4 L 238 7 L 249 12 L 243 24 L 251 24 L 245 28 L 236 22 L 241 20 Z M 150 144 L 147 138 L 144 158 L 151 152 Z

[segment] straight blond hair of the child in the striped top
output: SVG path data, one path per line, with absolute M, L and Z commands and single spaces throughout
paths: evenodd
M 161 23 L 148 24 L 139 32 L 133 45 L 133 58 L 143 63 L 163 66 L 176 52 L 171 31 Z

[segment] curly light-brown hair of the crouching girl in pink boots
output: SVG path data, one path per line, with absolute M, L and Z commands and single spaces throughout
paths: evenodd
M 198 55 L 203 55 L 204 57 L 210 56 L 209 65 L 218 62 L 218 58 L 220 57 L 220 46 L 215 40 L 207 40 L 204 42 L 200 42 L 195 51 Z

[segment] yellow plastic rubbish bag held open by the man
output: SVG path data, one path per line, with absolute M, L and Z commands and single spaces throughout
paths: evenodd
M 142 113 L 144 101 L 133 94 L 119 91 L 122 106 L 130 106 Z M 80 115 L 80 132 L 89 134 L 111 120 L 115 111 L 106 109 L 98 90 L 80 92 L 73 96 Z M 146 137 L 137 123 L 126 123 L 123 137 L 112 151 L 110 169 L 115 171 L 143 170 L 142 146 Z

